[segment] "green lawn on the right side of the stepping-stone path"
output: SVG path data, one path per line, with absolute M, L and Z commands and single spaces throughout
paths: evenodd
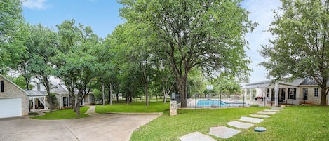
M 328 140 L 329 107 L 285 107 L 256 126 L 267 131 L 256 133 L 250 128 L 230 140 Z

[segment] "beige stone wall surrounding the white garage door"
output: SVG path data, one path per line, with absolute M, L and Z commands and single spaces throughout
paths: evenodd
M 21 98 L 22 99 L 22 115 L 29 115 L 29 100 L 25 90 L 22 90 L 15 83 L 0 75 L 0 81 L 4 81 L 4 92 L 0 91 L 0 99 L 2 98 Z

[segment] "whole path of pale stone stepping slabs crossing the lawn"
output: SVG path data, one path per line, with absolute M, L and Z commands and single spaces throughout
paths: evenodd
M 276 112 L 280 112 L 282 107 L 271 107 L 271 109 L 264 109 L 263 111 L 257 112 L 257 114 L 250 114 L 251 117 L 242 116 L 239 120 L 240 121 L 230 121 L 227 122 L 227 126 L 232 126 L 234 128 L 240 129 L 248 129 L 253 127 L 253 123 L 261 123 L 264 119 L 260 118 L 269 118 L 268 114 L 276 114 Z M 247 123 L 246 123 L 247 122 Z M 242 132 L 241 130 L 236 130 L 234 128 L 229 128 L 227 126 L 218 126 L 210 128 L 209 135 L 214 135 L 216 137 L 220 137 L 223 139 L 227 139 L 233 137 L 234 135 Z M 208 135 L 204 135 L 199 132 L 189 133 L 180 137 L 182 141 L 196 141 L 196 140 L 203 140 L 203 141 L 213 141 L 214 139 Z

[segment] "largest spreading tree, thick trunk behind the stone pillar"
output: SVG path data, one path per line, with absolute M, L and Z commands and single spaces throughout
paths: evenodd
M 196 66 L 248 78 L 244 35 L 255 27 L 240 1 L 121 0 L 120 15 L 156 33 L 156 53 L 170 63 L 181 106 L 187 106 L 187 77 Z

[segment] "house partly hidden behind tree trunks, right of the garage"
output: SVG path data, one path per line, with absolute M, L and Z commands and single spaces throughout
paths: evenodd
M 57 79 L 53 76 L 50 78 L 51 81 L 51 93 L 55 93 L 56 98 L 58 100 L 58 109 L 65 109 L 65 107 L 69 107 L 71 105 L 72 100 L 69 98 L 69 90 L 65 86 L 62 80 Z M 38 80 L 34 80 L 32 85 L 34 85 L 34 89 L 36 91 L 44 92 L 46 91 L 45 87 L 38 82 Z M 74 94 L 77 95 L 77 91 L 74 91 Z M 77 97 L 75 97 L 77 101 Z M 92 105 L 95 103 L 94 95 L 92 92 L 89 92 L 87 95 L 84 96 L 83 100 L 81 101 L 81 105 Z

